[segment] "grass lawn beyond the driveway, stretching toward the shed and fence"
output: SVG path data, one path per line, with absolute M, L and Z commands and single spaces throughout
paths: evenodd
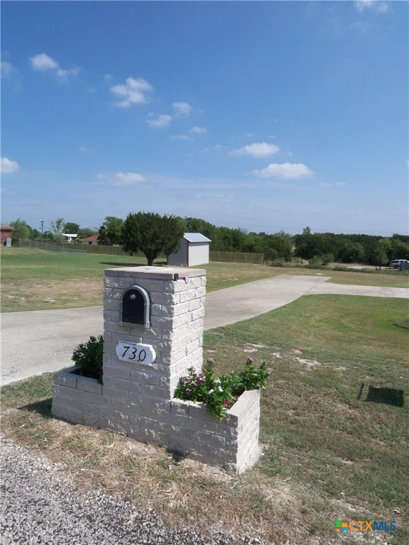
M 1 248 L 1 312 L 92 307 L 102 305 L 104 270 L 146 264 L 129 255 L 63 253 L 31 248 Z M 156 264 L 162 265 L 163 260 Z M 207 291 L 277 275 L 325 275 L 331 282 L 407 287 L 409 275 L 400 271 L 371 273 L 268 267 L 241 263 L 209 263 Z

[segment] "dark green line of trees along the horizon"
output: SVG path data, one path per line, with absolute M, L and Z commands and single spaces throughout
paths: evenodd
M 40 233 L 26 221 L 11 222 L 12 236 L 45 240 L 62 240 L 62 233 L 75 233 L 77 242 L 98 234 L 100 244 L 124 246 L 126 251 L 143 251 L 148 262 L 158 255 L 168 255 L 178 248 L 182 233 L 202 233 L 212 243 L 210 249 L 220 252 L 263 253 L 266 260 L 289 262 L 294 258 L 314 264 L 366 263 L 388 265 L 393 259 L 409 260 L 409 236 L 391 237 L 366 234 L 312 233 L 305 227 L 302 233 L 290 235 L 285 231 L 265 233 L 215 226 L 200 218 L 160 216 L 160 214 L 130 213 L 126 219 L 107 216 L 98 231 L 58 218 L 51 229 Z M 155 255 L 152 258 L 152 255 Z

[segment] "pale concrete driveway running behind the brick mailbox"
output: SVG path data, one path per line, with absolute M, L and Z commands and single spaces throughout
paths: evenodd
M 205 329 L 246 320 L 302 295 L 343 294 L 409 298 L 409 289 L 330 284 L 327 276 L 281 275 L 209 292 Z M 1 384 L 72 365 L 72 351 L 104 332 L 102 307 L 12 312 L 0 315 Z

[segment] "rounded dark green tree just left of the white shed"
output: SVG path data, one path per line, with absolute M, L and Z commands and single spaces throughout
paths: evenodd
M 178 250 L 185 223 L 177 216 L 160 216 L 152 212 L 128 214 L 124 221 L 124 249 L 141 251 L 148 265 L 161 253 L 169 255 Z

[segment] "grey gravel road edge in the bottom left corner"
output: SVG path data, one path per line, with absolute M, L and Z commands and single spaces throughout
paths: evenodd
M 126 500 L 82 493 L 59 464 L 1 438 L 1 545 L 231 545 L 229 536 L 169 529 Z M 236 541 L 237 543 L 237 541 Z M 241 544 L 262 544 L 243 539 Z

